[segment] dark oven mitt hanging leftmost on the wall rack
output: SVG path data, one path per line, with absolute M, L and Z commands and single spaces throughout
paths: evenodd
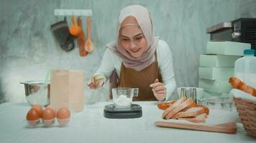
M 73 36 L 70 35 L 66 18 L 50 26 L 52 33 L 64 51 L 74 49 Z

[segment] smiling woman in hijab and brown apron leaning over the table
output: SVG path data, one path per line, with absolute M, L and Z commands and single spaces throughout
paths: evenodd
M 94 75 L 100 82 L 88 81 L 90 89 L 102 87 L 109 79 L 113 87 L 137 87 L 134 101 L 163 101 L 176 87 L 173 59 L 165 41 L 152 33 L 150 12 L 143 6 L 127 6 L 119 14 L 116 40 L 106 45 L 101 66 Z

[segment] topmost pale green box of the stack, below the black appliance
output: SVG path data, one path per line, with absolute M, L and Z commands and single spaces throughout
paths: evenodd
M 251 44 L 234 41 L 208 41 L 206 54 L 243 56 L 244 49 L 251 49 Z

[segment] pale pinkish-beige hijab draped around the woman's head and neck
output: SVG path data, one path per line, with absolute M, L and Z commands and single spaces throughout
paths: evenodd
M 147 40 L 147 49 L 139 58 L 134 58 L 129 52 L 127 52 L 121 44 L 119 44 L 119 31 L 122 21 L 124 21 L 127 16 L 133 16 L 142 30 L 145 39 Z M 107 44 L 107 48 L 113 51 L 117 56 L 122 59 L 125 67 L 132 68 L 137 71 L 145 69 L 150 66 L 154 61 L 154 54 L 157 48 L 159 37 L 153 36 L 152 34 L 152 21 L 150 17 L 150 12 L 143 6 L 132 5 L 127 6 L 119 14 L 119 23 L 116 31 L 116 41 L 111 41 Z

